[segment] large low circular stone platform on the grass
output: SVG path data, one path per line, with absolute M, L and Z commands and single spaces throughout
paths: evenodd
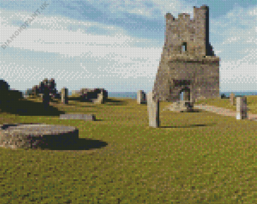
M 79 139 L 79 130 L 74 126 L 43 123 L 15 123 L 0 125 L 0 147 L 46 148 L 71 145 Z

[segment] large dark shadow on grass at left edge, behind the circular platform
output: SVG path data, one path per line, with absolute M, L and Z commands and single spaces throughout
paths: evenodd
M 50 105 L 44 106 L 43 103 L 28 101 L 25 99 L 0 101 L 1 112 L 21 116 L 59 116 L 65 114 Z

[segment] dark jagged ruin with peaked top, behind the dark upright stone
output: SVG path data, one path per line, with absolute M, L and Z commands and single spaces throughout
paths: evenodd
M 49 95 L 50 99 L 60 99 L 60 94 L 56 90 L 56 84 L 54 82 L 54 79 L 48 80 L 44 79 L 42 82 L 40 82 L 39 85 L 36 85 L 32 88 L 32 90 L 27 90 L 26 95 L 28 96 L 40 96 L 43 98 L 43 94 L 45 89 L 49 89 Z

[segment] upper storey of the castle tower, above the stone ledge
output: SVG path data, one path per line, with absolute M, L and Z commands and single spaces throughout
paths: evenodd
M 209 9 L 207 6 L 194 8 L 194 19 L 189 14 L 179 14 L 175 19 L 166 14 L 166 32 L 164 55 L 172 56 L 214 56 L 208 52 L 209 42 Z M 182 53 L 181 45 L 186 43 L 186 51 Z

